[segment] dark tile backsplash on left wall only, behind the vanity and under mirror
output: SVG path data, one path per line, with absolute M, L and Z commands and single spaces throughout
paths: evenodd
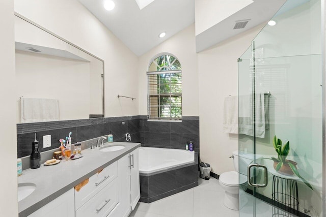
M 125 142 L 125 134 L 129 132 L 131 142 L 140 142 L 139 126 L 139 116 L 19 123 L 17 124 L 17 157 L 31 154 L 35 133 L 40 144 L 40 152 L 43 152 L 58 148 L 59 139 L 65 139 L 69 132 L 72 132 L 72 143 L 107 135 L 110 131 L 114 141 Z M 43 148 L 44 135 L 51 135 L 51 147 Z

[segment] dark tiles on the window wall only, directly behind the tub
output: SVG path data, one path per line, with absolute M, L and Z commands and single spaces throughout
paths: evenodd
M 192 141 L 199 153 L 199 117 L 183 116 L 181 122 L 150 121 L 140 116 L 140 142 L 142 146 L 185 149 Z

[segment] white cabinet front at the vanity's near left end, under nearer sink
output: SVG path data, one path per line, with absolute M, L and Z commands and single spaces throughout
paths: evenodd
M 28 217 L 71 217 L 74 216 L 73 189 L 52 200 L 42 208 L 36 210 Z

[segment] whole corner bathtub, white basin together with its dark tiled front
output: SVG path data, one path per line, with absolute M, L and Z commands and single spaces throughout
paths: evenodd
M 140 202 L 151 203 L 198 186 L 198 154 L 169 148 L 139 148 Z

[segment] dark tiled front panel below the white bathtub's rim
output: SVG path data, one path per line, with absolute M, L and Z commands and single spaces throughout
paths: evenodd
M 140 173 L 140 202 L 151 203 L 198 186 L 198 154 L 193 163 L 153 173 Z

